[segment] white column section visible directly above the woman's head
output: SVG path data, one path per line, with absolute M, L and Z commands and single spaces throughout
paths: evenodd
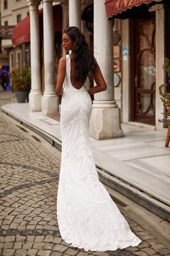
M 81 29 L 81 0 L 69 0 L 69 26 Z

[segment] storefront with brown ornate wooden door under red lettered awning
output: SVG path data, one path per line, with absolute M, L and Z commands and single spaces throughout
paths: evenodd
M 158 87 L 164 83 L 162 67 L 169 54 L 169 48 L 165 47 L 169 38 L 164 40 L 165 35 L 167 37 L 167 25 L 164 25 L 168 22 L 167 2 L 105 1 L 107 18 L 119 19 L 121 26 L 122 121 L 152 124 L 156 129 L 163 127 L 158 121 L 163 112 Z

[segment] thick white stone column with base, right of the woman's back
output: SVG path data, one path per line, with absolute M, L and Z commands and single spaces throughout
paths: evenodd
M 112 21 L 107 20 L 104 0 L 94 0 L 94 55 L 107 90 L 94 94 L 90 133 L 97 140 L 122 137 L 120 108 L 114 101 Z

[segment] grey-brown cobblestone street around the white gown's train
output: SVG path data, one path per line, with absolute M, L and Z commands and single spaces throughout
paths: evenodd
M 1 256 L 170 256 L 166 245 L 128 216 L 131 229 L 143 240 L 138 247 L 85 252 L 63 242 L 56 217 L 59 161 L 28 129 L 2 113 L 0 120 Z

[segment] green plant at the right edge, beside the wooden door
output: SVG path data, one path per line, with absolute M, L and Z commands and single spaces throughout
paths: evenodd
M 159 94 L 161 95 L 161 101 L 164 105 L 164 124 L 170 125 L 170 60 L 165 59 L 165 63 L 163 66 L 167 76 L 168 76 L 168 84 L 159 86 Z

